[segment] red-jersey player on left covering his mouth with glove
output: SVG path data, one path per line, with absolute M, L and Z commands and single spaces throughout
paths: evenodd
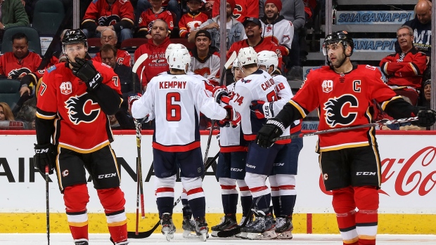
M 62 44 L 68 62 L 46 69 L 37 91 L 34 166 L 41 173 L 46 166 L 50 173 L 56 169 L 76 245 L 88 244 L 85 169 L 103 205 L 111 239 L 125 245 L 125 199 L 107 116 L 122 102 L 118 76 L 108 65 L 84 59 L 88 47 L 80 29 L 66 32 Z

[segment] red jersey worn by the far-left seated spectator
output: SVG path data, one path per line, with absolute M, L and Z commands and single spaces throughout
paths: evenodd
M 6 52 L 0 56 L 0 74 L 6 77 L 18 79 L 18 77 L 30 72 L 36 72 L 41 64 L 41 56 L 29 52 L 25 58 L 18 60 L 12 52 Z

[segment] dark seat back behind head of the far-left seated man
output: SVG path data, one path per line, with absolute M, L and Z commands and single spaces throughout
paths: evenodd
M 41 41 L 37 29 L 32 27 L 11 27 L 6 29 L 1 43 L 1 53 L 12 52 L 12 36 L 23 32 L 29 40 L 29 50 L 41 55 Z

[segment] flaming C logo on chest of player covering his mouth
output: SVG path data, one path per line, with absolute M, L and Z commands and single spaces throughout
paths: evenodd
M 65 108 L 68 109 L 68 117 L 73 124 L 84 122 L 89 124 L 95 121 L 100 114 L 100 106 L 94 102 L 89 93 L 75 95 L 65 101 Z

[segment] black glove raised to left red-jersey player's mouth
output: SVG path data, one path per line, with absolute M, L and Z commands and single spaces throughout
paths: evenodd
M 72 74 L 84 81 L 89 90 L 93 91 L 98 88 L 101 82 L 103 82 L 103 77 L 100 72 L 96 70 L 96 67 L 92 65 L 92 61 L 77 57 L 75 61 L 76 62 L 70 62 L 72 65 Z

